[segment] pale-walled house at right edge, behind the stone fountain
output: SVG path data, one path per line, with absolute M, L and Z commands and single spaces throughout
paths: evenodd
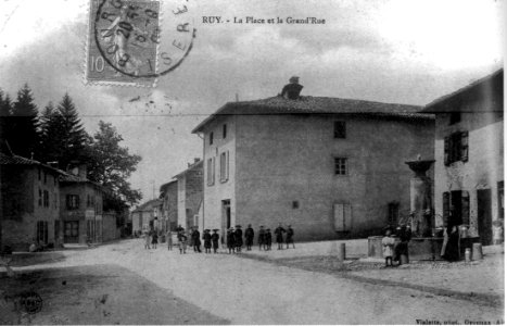
M 436 116 L 436 225 L 465 225 L 483 244 L 504 218 L 504 70 L 422 110 Z

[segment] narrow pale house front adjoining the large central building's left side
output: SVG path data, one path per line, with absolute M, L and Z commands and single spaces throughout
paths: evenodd
M 202 228 L 203 161 L 195 159 L 174 178 L 178 180 L 178 225 Z

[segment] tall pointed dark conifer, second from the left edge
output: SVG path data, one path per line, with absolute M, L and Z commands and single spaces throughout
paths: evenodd
M 8 135 L 7 140 L 12 151 L 17 155 L 31 158 L 39 146 L 39 133 L 37 106 L 27 84 L 17 91 L 10 126 L 13 133 Z

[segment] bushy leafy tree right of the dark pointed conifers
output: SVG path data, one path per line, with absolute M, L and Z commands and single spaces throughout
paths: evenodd
M 89 147 L 90 164 L 88 178 L 110 191 L 104 196 L 104 210 L 123 211 L 134 205 L 142 196 L 131 189 L 128 178 L 136 171 L 141 156 L 130 154 L 128 148 L 121 147 L 123 137 L 111 123 L 99 122 L 99 131 L 93 135 Z

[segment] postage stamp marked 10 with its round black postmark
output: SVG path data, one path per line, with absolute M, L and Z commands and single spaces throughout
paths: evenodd
M 192 48 L 195 29 L 183 18 L 188 7 L 173 7 L 156 0 L 91 0 L 87 83 L 152 87 L 179 66 Z M 166 25 L 164 10 L 173 15 Z

